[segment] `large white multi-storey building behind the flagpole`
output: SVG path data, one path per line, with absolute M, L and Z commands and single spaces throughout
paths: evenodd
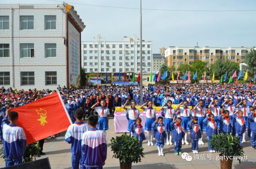
M 140 72 L 140 38 L 124 36 L 123 41 L 106 41 L 98 35 L 91 42 L 82 42 L 82 67 L 85 72 Z M 142 41 L 142 72 L 152 70 L 152 42 Z

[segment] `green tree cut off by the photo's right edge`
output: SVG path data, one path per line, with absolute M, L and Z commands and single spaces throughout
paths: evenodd
M 256 50 L 251 49 L 249 53 L 245 56 L 245 63 L 248 65 L 248 79 L 254 78 L 256 73 Z

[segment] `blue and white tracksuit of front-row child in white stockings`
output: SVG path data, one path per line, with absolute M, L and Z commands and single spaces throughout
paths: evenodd
M 161 131 L 161 124 L 160 123 L 153 123 L 152 128 L 156 131 L 156 145 L 158 147 L 164 147 L 164 140 L 166 140 L 166 127 L 162 124 L 162 131 Z

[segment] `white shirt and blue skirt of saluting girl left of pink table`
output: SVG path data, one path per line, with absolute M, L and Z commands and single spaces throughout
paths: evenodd
M 104 107 L 103 115 L 102 115 L 102 109 L 103 107 L 95 107 L 95 111 L 98 113 L 100 117 L 98 120 L 97 128 L 98 130 L 108 130 L 107 116 L 110 115 L 109 109 L 107 107 Z

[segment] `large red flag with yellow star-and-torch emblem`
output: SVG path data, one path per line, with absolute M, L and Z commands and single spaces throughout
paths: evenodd
M 17 125 L 23 128 L 27 144 L 66 131 L 72 123 L 59 92 L 10 111 L 18 112 Z

